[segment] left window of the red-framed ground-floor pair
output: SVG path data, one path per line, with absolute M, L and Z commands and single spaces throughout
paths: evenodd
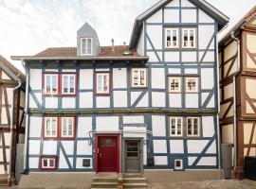
M 45 138 L 57 138 L 58 118 L 45 117 Z

